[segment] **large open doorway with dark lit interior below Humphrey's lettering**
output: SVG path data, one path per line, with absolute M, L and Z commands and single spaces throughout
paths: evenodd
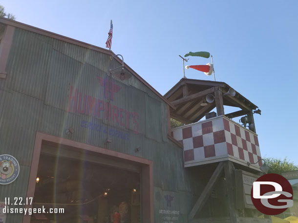
M 138 167 L 70 150 L 42 147 L 33 207 L 64 213 L 35 214 L 31 223 L 140 223 Z

